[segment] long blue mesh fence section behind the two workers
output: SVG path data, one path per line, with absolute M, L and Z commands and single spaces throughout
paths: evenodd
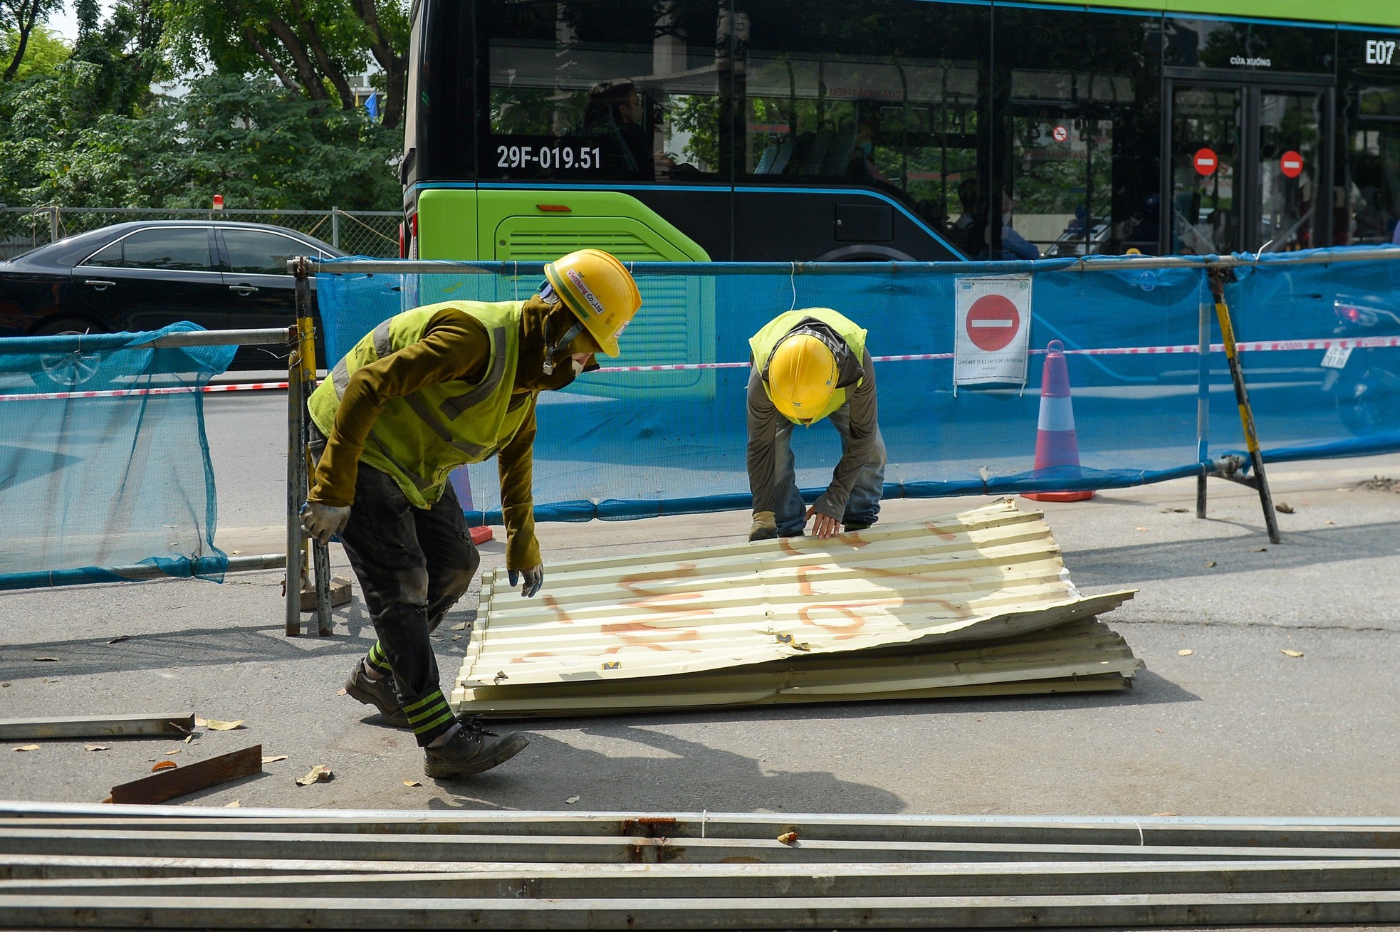
M 1355 250 L 1333 250 L 1351 252 Z M 1226 290 L 1267 460 L 1400 449 L 1400 263 L 1266 256 Z M 353 260 L 349 260 L 353 262 Z M 1088 264 L 1092 270 L 1084 270 Z M 542 266 L 318 274 L 330 360 L 400 309 L 524 299 Z M 834 308 L 869 332 L 886 497 L 1112 488 L 1198 474 L 1243 452 L 1207 273 L 1133 260 L 937 264 L 637 263 L 643 309 L 564 392 L 540 396 L 540 519 L 624 519 L 749 504 L 748 339 L 791 308 Z M 955 389 L 960 280 L 1029 281 L 1025 383 Z M 1211 348 L 1198 350 L 1203 320 Z M 1035 469 L 1044 350 L 1063 343 L 1081 465 Z M 1324 365 L 1324 355 L 1327 357 Z M 907 358 L 902 358 L 907 357 Z M 1204 409 L 1204 423 L 1198 410 Z M 826 423 L 794 432 L 811 497 L 840 456 Z M 469 516 L 500 521 L 494 463 L 469 467 Z

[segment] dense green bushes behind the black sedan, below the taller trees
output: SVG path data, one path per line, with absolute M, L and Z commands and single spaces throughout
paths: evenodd
M 364 111 L 297 98 L 266 81 L 196 80 L 134 116 L 85 109 L 102 69 L 70 62 L 0 95 L 0 200 L 69 207 L 395 210 L 396 133 Z M 6 120 L 8 118 L 8 120 Z M 4 125 L 8 123 L 8 129 Z

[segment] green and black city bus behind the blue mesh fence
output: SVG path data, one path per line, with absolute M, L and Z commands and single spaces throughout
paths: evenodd
M 417 0 L 424 259 L 1390 242 L 1400 3 Z M 1326 17 L 1326 18 L 1324 18 Z

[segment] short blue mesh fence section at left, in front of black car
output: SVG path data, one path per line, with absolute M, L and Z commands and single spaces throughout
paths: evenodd
M 199 329 L 0 340 L 0 589 L 223 579 L 200 389 L 237 347 L 141 346 Z

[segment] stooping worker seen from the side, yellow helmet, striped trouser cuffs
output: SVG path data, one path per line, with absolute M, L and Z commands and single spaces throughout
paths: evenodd
M 529 301 L 448 301 L 406 311 L 365 334 L 311 395 L 312 448 L 323 444 L 302 528 L 340 535 L 379 640 L 346 693 L 412 728 L 428 777 L 459 778 L 519 753 L 455 719 L 428 634 L 466 593 L 480 556 L 448 473 L 496 456 L 505 567 L 533 596 L 545 579 L 531 473 L 535 399 L 617 355 L 641 306 L 613 256 L 571 252 L 545 266 Z M 494 740 L 487 740 L 494 739 Z

